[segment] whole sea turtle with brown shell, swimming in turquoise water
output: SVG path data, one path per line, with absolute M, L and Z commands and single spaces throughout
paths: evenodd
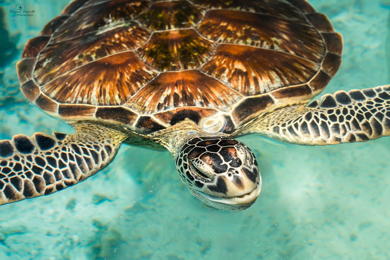
M 0 204 L 83 181 L 127 143 L 168 149 L 201 201 L 246 209 L 262 179 L 234 138 L 327 145 L 390 135 L 390 85 L 309 103 L 341 51 L 305 0 L 76 0 L 17 63 L 26 98 L 76 134 L 0 141 Z

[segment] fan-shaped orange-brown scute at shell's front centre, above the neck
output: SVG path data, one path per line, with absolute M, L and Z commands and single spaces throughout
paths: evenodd
M 176 107 L 208 107 L 226 110 L 242 95 L 198 70 L 161 73 L 140 89 L 125 106 L 141 114 Z

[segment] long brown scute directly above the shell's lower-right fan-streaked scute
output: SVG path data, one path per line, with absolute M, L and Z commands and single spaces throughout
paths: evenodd
M 309 24 L 263 14 L 210 10 L 198 30 L 216 42 L 283 51 L 315 62 L 326 51 L 320 34 Z

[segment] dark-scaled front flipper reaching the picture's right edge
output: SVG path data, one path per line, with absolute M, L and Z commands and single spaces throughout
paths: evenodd
M 337 91 L 309 105 L 278 108 L 251 122 L 247 131 L 302 145 L 364 142 L 390 136 L 390 85 Z

